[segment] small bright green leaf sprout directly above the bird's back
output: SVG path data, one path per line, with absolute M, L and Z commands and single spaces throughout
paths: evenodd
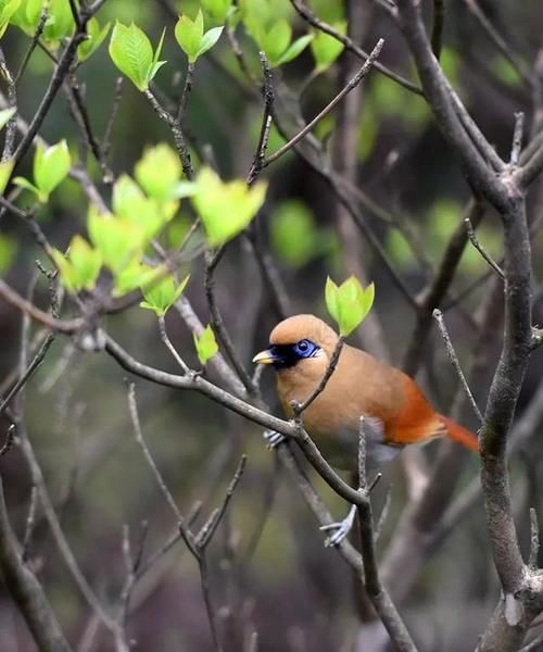
M 350 335 L 371 310 L 375 286 L 364 289 L 355 276 L 350 276 L 340 286 L 328 277 L 326 280 L 326 308 L 338 324 L 343 337 Z

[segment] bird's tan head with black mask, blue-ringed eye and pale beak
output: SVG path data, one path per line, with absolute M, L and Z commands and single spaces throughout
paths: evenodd
M 277 371 L 306 367 L 326 371 L 338 335 L 323 319 L 295 315 L 277 324 L 269 335 L 269 346 L 253 358 L 256 364 L 272 364 Z

